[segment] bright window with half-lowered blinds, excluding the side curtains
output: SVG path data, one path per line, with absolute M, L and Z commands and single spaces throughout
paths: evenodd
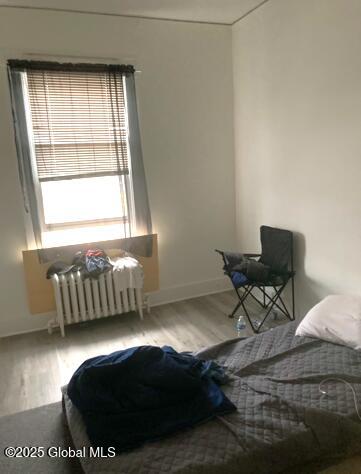
M 124 77 L 29 69 L 22 79 L 43 245 L 129 236 Z

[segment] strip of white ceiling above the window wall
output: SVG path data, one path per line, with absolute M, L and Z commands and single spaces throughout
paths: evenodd
M 231 25 L 268 0 L 0 0 L 0 6 Z

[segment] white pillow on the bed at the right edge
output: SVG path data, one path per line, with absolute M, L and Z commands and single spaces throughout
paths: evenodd
M 361 296 L 327 296 L 306 314 L 296 335 L 361 350 Z

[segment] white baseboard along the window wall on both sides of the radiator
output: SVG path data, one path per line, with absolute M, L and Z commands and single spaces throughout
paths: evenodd
M 187 285 L 177 285 L 168 288 L 163 288 L 157 292 L 148 295 L 149 304 L 151 307 L 161 306 L 168 303 L 175 303 L 177 301 L 188 300 L 190 298 L 198 298 L 222 291 L 230 290 L 231 284 L 226 277 L 214 278 L 211 280 L 197 281 L 188 283 Z M 32 332 L 47 331 L 48 320 L 54 317 L 55 313 L 48 313 L 48 316 L 43 327 L 25 329 L 23 331 L 14 331 L 0 335 L 0 339 L 4 337 L 20 336 L 21 334 L 30 334 Z

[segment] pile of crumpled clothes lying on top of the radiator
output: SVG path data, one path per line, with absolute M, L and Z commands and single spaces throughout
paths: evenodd
M 134 269 L 140 267 L 138 260 L 130 254 L 111 260 L 101 249 L 88 249 L 79 251 L 74 255 L 71 265 L 63 261 L 57 261 L 48 268 L 46 278 L 50 279 L 53 275 L 65 275 L 71 272 L 80 271 L 82 278 L 98 279 L 100 275 L 110 270 L 122 271 L 125 268 Z M 132 285 L 130 286 L 132 287 Z

